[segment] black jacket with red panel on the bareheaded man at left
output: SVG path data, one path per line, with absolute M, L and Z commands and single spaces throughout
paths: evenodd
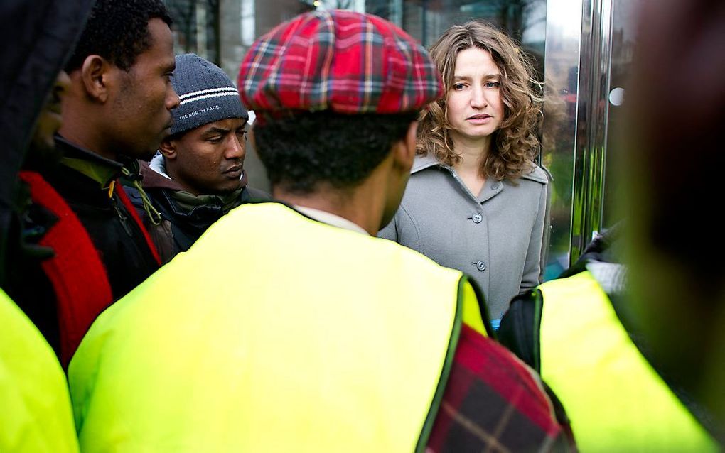
M 67 366 L 95 317 L 151 275 L 159 259 L 115 182 L 122 165 L 61 137 L 56 147 L 65 163 L 25 177 L 28 208 L 20 218 L 27 244 L 10 249 L 7 292 Z

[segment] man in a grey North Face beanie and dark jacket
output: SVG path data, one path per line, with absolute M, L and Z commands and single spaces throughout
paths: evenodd
M 249 114 L 228 76 L 196 54 L 182 54 L 171 84 L 181 99 L 172 111 L 171 135 L 150 165 L 141 162 L 143 188 L 159 216 L 144 209 L 141 191 L 126 188 L 162 262 L 186 251 L 231 209 L 268 198 L 247 188 L 243 165 Z

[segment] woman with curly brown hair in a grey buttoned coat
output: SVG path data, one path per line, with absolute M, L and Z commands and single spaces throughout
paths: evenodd
M 534 162 L 542 88 L 521 48 L 486 22 L 452 26 L 431 56 L 446 94 L 421 115 L 410 183 L 378 236 L 471 275 L 497 328 L 544 267 L 550 175 Z

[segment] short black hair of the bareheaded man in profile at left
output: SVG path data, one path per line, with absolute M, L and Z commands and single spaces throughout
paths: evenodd
M 152 46 L 152 19 L 171 25 L 161 0 L 96 0 L 65 70 L 70 73 L 78 69 L 88 55 L 96 54 L 128 71 L 136 57 Z

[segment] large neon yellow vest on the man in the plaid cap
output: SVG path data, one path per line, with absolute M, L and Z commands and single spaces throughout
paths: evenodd
M 242 205 L 86 335 L 70 364 L 81 447 L 413 451 L 462 278 L 282 204 Z

